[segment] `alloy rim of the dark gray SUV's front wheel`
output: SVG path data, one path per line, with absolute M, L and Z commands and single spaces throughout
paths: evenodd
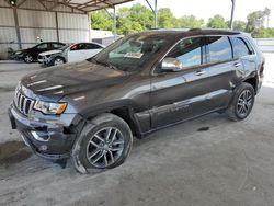
M 95 168 L 107 168 L 122 156 L 125 139 L 116 127 L 105 127 L 93 135 L 87 146 L 87 159 Z

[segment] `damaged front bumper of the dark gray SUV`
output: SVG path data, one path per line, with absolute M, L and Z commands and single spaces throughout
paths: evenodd
M 23 140 L 32 150 L 46 159 L 59 160 L 69 158 L 72 149 L 76 133 L 69 128 L 69 125 L 62 124 L 61 121 L 50 123 L 46 119 L 30 119 L 22 115 L 18 108 L 11 104 L 9 108 L 9 117 L 13 129 L 18 129 Z M 79 119 L 77 114 L 65 116 L 66 121 Z

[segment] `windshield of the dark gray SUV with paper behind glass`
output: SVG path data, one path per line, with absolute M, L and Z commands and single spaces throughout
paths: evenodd
M 88 60 L 134 72 L 151 61 L 165 45 L 167 39 L 162 34 L 138 34 L 116 41 Z

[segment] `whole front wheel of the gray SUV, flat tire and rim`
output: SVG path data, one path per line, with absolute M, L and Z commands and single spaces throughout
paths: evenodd
M 72 163 L 78 172 L 121 165 L 133 147 L 133 134 L 121 117 L 104 113 L 88 123 L 72 148 Z

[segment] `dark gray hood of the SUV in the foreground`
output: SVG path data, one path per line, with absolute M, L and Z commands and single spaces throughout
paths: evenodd
M 59 101 L 68 94 L 99 90 L 119 84 L 129 75 L 90 61 L 52 67 L 24 77 L 22 88 L 30 98 Z

